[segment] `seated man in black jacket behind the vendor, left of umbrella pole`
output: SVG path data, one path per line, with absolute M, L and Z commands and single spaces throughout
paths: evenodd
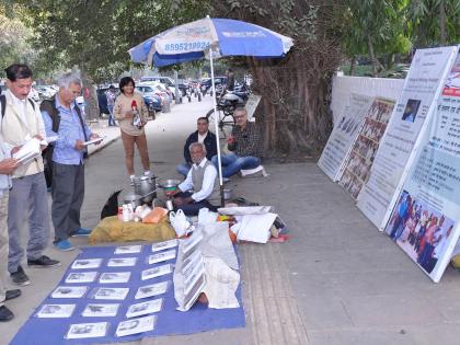
M 197 130 L 191 134 L 184 145 L 185 163 L 177 165 L 175 169 L 181 174 L 186 176 L 193 164 L 191 153 L 188 151 L 193 142 L 204 143 L 206 147 L 206 158 L 210 161 L 217 154 L 216 135 L 209 131 L 209 119 L 207 117 L 198 117 Z

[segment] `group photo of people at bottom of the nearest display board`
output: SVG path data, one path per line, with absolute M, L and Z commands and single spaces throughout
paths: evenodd
M 445 255 L 455 222 L 407 191 L 400 195 L 386 232 L 427 274 Z

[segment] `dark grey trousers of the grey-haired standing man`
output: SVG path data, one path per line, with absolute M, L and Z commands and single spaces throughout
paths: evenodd
M 67 240 L 80 225 L 80 209 L 84 198 L 84 165 L 53 163 L 51 219 L 55 242 Z

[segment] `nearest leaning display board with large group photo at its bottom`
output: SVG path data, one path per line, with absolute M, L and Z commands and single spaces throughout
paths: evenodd
M 386 232 L 434 281 L 439 281 L 460 235 L 460 55 Z

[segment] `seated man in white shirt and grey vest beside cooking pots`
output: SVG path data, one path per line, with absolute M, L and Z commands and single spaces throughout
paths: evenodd
M 199 209 L 207 207 L 216 210 L 208 199 L 218 195 L 212 193 L 218 191 L 216 186 L 217 170 L 210 161 L 206 159 L 206 147 L 200 142 L 193 142 L 189 147 L 192 157 L 192 169 L 187 177 L 182 182 L 177 189 L 165 192 L 166 196 L 174 197 L 174 209 L 182 209 L 186 216 L 196 216 Z

